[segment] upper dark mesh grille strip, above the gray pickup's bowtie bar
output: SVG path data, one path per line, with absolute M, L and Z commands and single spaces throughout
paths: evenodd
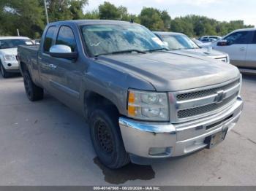
M 176 100 L 177 101 L 186 101 L 186 100 L 195 99 L 195 98 L 203 98 L 203 97 L 206 97 L 208 95 L 214 95 L 219 90 L 228 90 L 231 87 L 234 87 L 235 85 L 238 85 L 238 84 L 239 84 L 239 79 L 237 79 L 234 82 L 231 82 L 230 84 L 224 85 L 222 87 L 216 87 L 216 88 L 196 91 L 196 92 L 192 92 L 192 93 L 178 94 L 178 95 L 176 95 Z

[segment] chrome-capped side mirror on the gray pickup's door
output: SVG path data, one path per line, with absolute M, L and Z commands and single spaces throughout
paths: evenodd
M 56 58 L 77 59 L 78 52 L 72 52 L 71 47 L 63 44 L 56 44 L 50 47 L 50 56 Z

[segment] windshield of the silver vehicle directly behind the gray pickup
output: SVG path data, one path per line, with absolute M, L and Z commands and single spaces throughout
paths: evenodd
M 171 50 L 200 48 L 192 39 L 185 35 L 163 35 L 162 39 L 168 43 L 168 47 Z

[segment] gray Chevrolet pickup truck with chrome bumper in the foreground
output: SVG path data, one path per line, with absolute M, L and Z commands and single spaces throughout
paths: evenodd
M 83 114 L 108 168 L 210 149 L 243 108 L 235 66 L 167 51 L 136 23 L 50 23 L 18 60 L 29 100 L 46 90 Z

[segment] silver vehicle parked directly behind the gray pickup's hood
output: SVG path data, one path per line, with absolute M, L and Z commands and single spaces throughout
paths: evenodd
M 178 51 L 187 54 L 207 56 L 210 58 L 229 63 L 230 59 L 226 53 L 212 50 L 212 48 L 199 47 L 192 39 L 181 33 L 172 32 L 154 32 L 162 42 L 167 42 L 171 51 Z

